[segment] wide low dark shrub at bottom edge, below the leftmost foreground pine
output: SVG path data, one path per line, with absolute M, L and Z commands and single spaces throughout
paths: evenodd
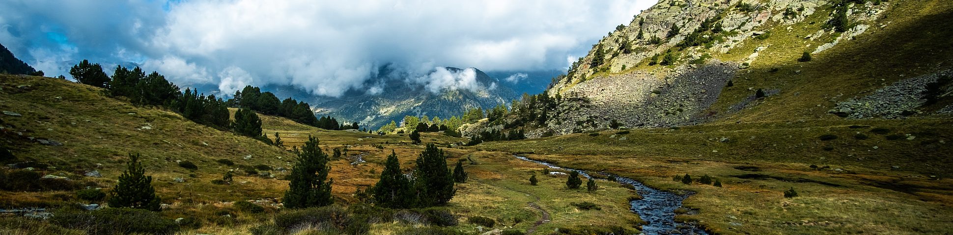
M 170 219 L 158 213 L 134 208 L 107 207 L 91 211 L 53 213 L 50 222 L 91 234 L 172 234 L 178 230 Z

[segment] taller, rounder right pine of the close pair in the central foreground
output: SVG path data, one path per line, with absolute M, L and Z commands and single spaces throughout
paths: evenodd
M 443 150 L 428 144 L 416 160 L 416 190 L 420 206 L 442 206 L 456 194 L 454 177 Z

